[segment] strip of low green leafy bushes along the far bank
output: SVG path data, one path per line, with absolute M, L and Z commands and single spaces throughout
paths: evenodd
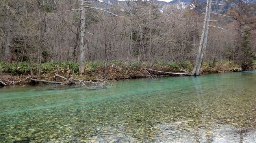
M 30 74 L 30 63 L 22 62 L 17 64 L 17 68 L 15 67 L 16 63 L 5 63 L 0 62 L 0 72 L 6 72 L 13 75 L 19 74 Z M 33 63 L 32 69 L 33 73 L 37 74 L 37 63 Z M 130 63 L 121 62 L 121 61 L 113 61 L 111 62 L 111 66 L 108 67 L 109 72 L 117 72 L 116 74 L 133 72 L 141 72 L 141 67 L 147 67 L 147 62 L 132 61 Z M 212 72 L 226 72 L 233 71 L 233 69 L 238 69 L 239 66 L 234 61 L 221 61 L 216 62 L 213 66 L 212 62 L 203 62 L 201 67 L 201 73 L 212 73 Z M 79 72 L 79 63 L 72 62 L 45 62 L 41 64 L 41 73 L 42 74 L 67 74 L 68 69 L 70 73 L 78 74 Z M 104 62 L 85 62 L 85 74 L 86 75 L 95 75 L 100 74 L 104 70 Z M 128 70 L 129 69 L 129 70 Z M 193 70 L 193 64 L 189 61 L 184 61 L 182 63 L 171 62 L 165 64 L 164 62 L 156 62 L 152 69 L 166 71 L 166 72 L 184 72 L 182 70 L 191 72 Z M 128 71 L 127 71 L 128 70 Z M 113 73 L 108 73 L 113 74 Z M 132 73 L 130 73 L 132 74 Z

